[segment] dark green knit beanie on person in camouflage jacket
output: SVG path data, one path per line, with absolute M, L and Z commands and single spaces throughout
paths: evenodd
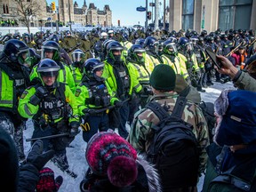
M 170 66 L 159 64 L 153 69 L 149 83 L 156 90 L 170 92 L 175 88 L 176 74 Z

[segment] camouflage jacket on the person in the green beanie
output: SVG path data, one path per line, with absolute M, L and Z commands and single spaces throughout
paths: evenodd
M 178 98 L 177 92 L 168 92 L 154 95 L 151 100 L 155 100 L 162 106 L 168 105 L 170 114 L 175 106 Z M 192 101 L 188 100 L 185 106 L 182 119 L 192 124 L 194 127 L 193 132 L 196 135 L 198 146 L 200 150 L 200 167 L 199 172 L 204 172 L 207 162 L 207 154 L 205 148 L 209 145 L 208 127 L 201 109 Z M 148 108 L 142 108 L 138 111 L 132 122 L 131 132 L 128 140 L 139 153 L 147 153 L 148 147 L 153 139 L 153 132 L 150 129 L 151 125 L 158 124 L 159 118 Z

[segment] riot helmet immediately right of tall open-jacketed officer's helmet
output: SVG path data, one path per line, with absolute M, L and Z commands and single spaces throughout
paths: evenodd
M 146 50 L 140 44 L 133 44 L 132 47 L 128 50 L 128 58 L 140 65 L 145 63 L 145 54 Z

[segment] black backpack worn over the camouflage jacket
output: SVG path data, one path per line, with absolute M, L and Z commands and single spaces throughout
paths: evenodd
M 151 126 L 154 136 L 147 157 L 156 166 L 163 191 L 196 186 L 199 167 L 196 136 L 193 125 L 181 119 L 186 103 L 185 97 L 178 97 L 172 115 L 156 101 L 146 106 L 160 119 L 159 124 Z

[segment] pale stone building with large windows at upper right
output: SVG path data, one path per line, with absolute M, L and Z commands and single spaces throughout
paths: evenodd
M 169 30 L 256 29 L 256 0 L 169 0 Z

